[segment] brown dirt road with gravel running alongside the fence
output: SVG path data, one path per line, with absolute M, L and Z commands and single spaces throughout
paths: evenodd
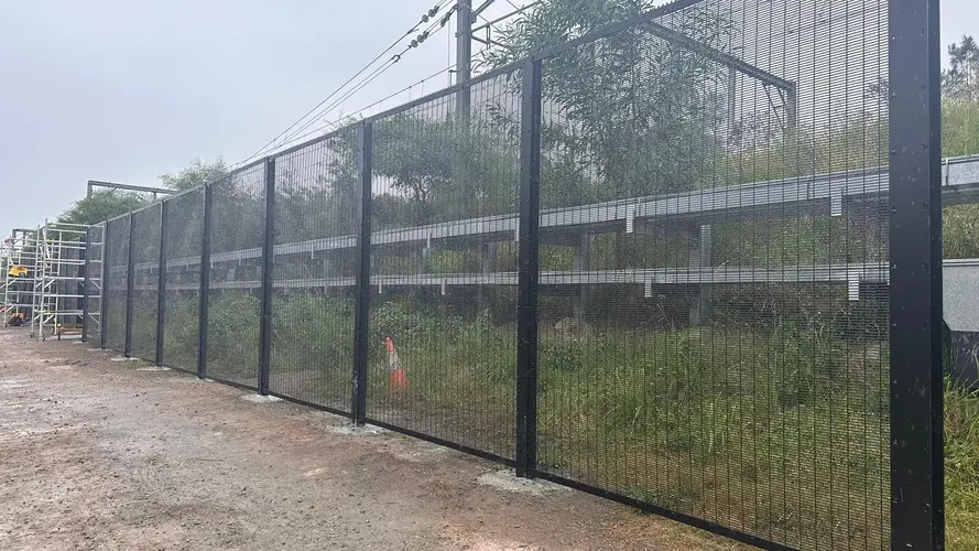
M 735 548 L 414 439 L 111 357 L 0 329 L 0 549 Z

